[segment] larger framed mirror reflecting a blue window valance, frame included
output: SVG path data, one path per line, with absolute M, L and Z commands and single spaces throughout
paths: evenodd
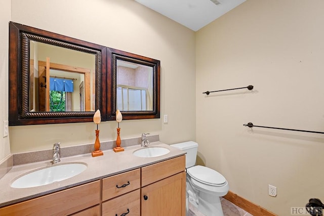
M 9 23 L 9 124 L 106 118 L 106 47 Z

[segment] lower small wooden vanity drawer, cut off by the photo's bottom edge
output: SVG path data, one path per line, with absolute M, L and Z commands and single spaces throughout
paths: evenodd
M 102 215 L 140 215 L 140 189 L 102 203 Z

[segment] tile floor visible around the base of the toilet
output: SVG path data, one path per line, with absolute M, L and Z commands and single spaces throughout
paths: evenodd
M 221 204 L 224 216 L 253 216 L 249 212 L 241 209 L 227 199 L 221 197 Z M 200 213 L 193 205 L 189 203 L 189 214 L 187 216 L 210 216 Z

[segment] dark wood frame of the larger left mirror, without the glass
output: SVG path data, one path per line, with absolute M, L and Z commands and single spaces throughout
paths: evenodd
M 9 23 L 9 125 L 53 124 L 93 121 L 95 111 L 29 111 L 29 41 L 95 55 L 95 110 L 106 120 L 106 47 L 61 34 Z

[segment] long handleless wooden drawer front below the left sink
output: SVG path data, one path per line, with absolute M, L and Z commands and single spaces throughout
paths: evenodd
M 68 215 L 100 203 L 100 180 L 0 208 L 0 215 Z

